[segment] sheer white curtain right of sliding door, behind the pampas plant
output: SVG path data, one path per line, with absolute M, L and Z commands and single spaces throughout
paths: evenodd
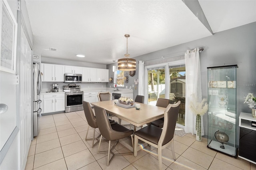
M 196 116 L 189 108 L 191 102 L 202 101 L 202 85 L 201 85 L 201 71 L 200 71 L 200 59 L 199 49 L 196 48 L 192 51 L 187 50 L 185 53 L 185 65 L 186 65 L 186 104 L 185 104 L 185 132 L 196 134 Z M 192 95 L 198 101 L 194 101 Z M 204 126 L 201 117 L 201 134 L 204 135 Z

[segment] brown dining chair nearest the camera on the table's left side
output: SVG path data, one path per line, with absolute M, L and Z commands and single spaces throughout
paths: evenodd
M 120 124 L 114 124 L 114 125 L 111 126 L 109 121 L 108 121 L 108 117 L 106 115 L 106 110 L 101 108 L 101 107 L 94 106 L 94 111 L 95 111 L 95 116 L 96 116 L 98 128 L 99 128 L 100 133 L 101 133 L 100 143 L 99 143 L 99 146 L 98 146 L 97 153 L 106 153 L 106 152 L 108 152 L 108 163 L 107 163 L 107 165 L 110 164 L 111 160 L 114 158 L 115 155 L 133 154 L 134 152 L 126 152 L 126 153 L 120 153 L 120 154 L 114 154 L 112 152 L 112 150 L 114 149 L 116 144 L 118 144 L 118 140 L 122 139 L 122 138 L 126 138 L 128 136 L 131 136 L 132 149 L 134 148 L 133 137 L 132 137 L 133 136 L 133 130 L 130 130 L 130 129 L 128 129 L 128 128 L 120 125 Z M 100 144 L 101 144 L 101 141 L 102 141 L 102 137 L 104 137 L 106 140 L 108 140 L 108 151 L 99 151 L 100 150 Z M 116 140 L 116 143 L 110 149 L 111 140 Z M 111 157 L 111 159 L 110 159 L 110 153 L 113 155 Z

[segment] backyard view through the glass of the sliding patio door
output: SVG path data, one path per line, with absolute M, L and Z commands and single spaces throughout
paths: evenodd
M 180 101 L 177 123 L 185 125 L 186 70 L 184 65 L 170 66 L 169 72 L 170 82 L 166 83 L 164 67 L 148 69 L 148 104 L 156 105 L 158 98 L 170 99 L 172 104 Z M 166 88 L 169 88 L 169 96 L 165 95 Z

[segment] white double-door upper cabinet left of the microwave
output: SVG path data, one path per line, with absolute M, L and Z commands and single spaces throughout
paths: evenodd
M 41 64 L 42 67 L 42 81 L 57 81 L 64 82 L 64 65 L 56 64 Z

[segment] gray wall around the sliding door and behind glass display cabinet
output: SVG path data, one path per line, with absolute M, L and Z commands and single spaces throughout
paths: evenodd
M 154 63 L 164 63 L 167 61 L 161 60 L 162 56 L 185 52 L 187 49 L 194 49 L 196 47 L 204 48 L 204 51 L 200 53 L 202 97 L 208 97 L 207 67 L 237 64 L 237 114 L 239 116 L 240 112 L 251 113 L 250 108 L 244 104 L 244 97 L 249 92 L 256 94 L 256 22 L 223 32 L 218 32 L 213 36 L 194 40 L 192 42 L 187 42 L 145 55 L 140 55 L 138 57 L 134 57 L 134 59 L 137 61 L 144 60 L 145 65 L 148 65 L 147 60 L 158 58 L 159 60 L 155 60 Z M 175 56 L 172 58 L 180 57 Z M 170 58 L 168 60 L 170 60 Z M 107 69 L 112 70 L 112 65 L 117 66 L 117 63 L 107 65 Z M 112 73 L 110 71 L 110 76 L 111 74 Z M 128 87 L 130 87 L 132 84 L 134 84 L 134 79 L 138 79 L 138 73 L 136 73 L 134 77 L 129 76 L 129 82 L 126 83 L 125 86 L 128 85 Z M 107 87 L 109 87 L 109 85 L 110 84 L 108 83 Z M 136 95 L 138 95 L 138 89 L 134 89 L 134 97 Z M 207 118 L 207 115 L 203 117 L 205 134 L 208 134 Z

